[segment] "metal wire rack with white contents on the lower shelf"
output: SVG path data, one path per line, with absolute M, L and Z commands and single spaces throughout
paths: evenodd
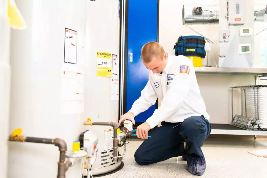
M 245 130 L 267 129 L 267 85 L 232 88 L 232 123 Z M 241 90 L 241 115 L 233 115 L 233 90 Z

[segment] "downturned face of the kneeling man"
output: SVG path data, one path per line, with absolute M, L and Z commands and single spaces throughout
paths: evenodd
M 143 61 L 144 63 L 144 61 Z M 147 69 L 151 70 L 153 74 L 160 73 L 163 71 L 167 63 L 166 54 L 162 56 L 162 58 L 153 57 L 150 63 L 144 63 Z

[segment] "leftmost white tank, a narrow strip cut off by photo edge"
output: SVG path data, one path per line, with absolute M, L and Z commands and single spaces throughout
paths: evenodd
M 0 0 L 0 177 L 7 178 L 7 153 L 10 102 L 10 28 L 7 17 L 7 1 Z

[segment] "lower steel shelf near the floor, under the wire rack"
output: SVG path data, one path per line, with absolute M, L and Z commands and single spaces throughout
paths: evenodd
M 265 130 L 244 130 L 244 129 L 235 127 L 235 126 L 230 125 L 230 124 L 212 124 L 212 131 L 210 134 L 267 136 L 267 131 L 265 131 Z

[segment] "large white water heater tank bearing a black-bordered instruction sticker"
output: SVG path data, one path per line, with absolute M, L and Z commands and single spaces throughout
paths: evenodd
M 68 150 L 82 132 L 85 0 L 20 0 L 25 30 L 11 31 L 9 133 L 64 139 Z M 8 142 L 9 178 L 55 178 L 58 147 Z M 67 178 L 82 177 L 82 162 Z

